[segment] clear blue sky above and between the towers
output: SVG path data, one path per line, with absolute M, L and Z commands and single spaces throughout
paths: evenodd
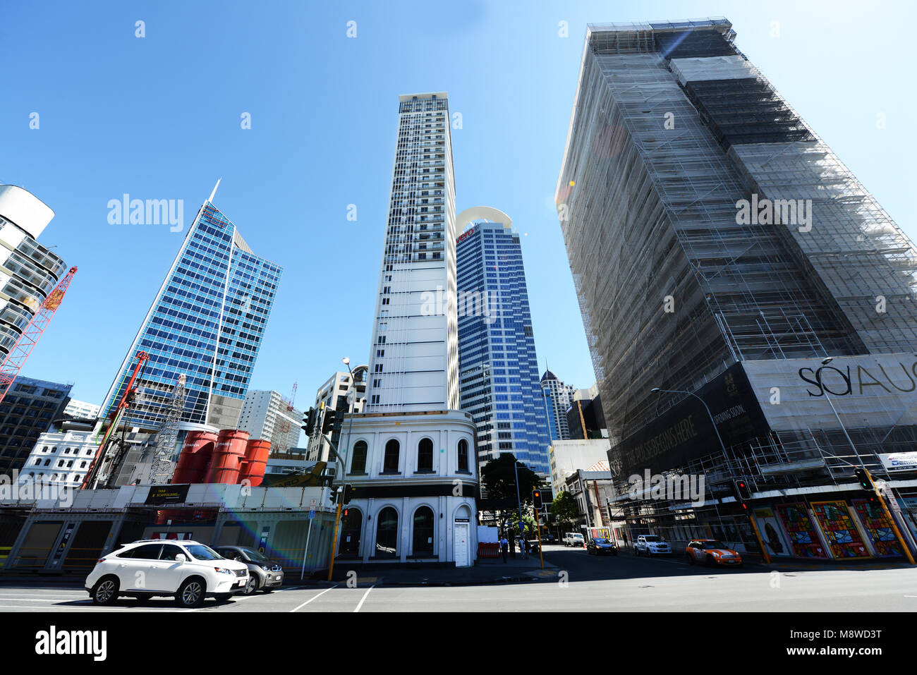
M 457 209 L 514 218 L 539 363 L 590 386 L 553 206 L 587 22 L 729 18 L 738 48 L 917 235 L 911 3 L 471 0 L 426 2 L 423 17 L 414 6 L 7 4 L 0 183 L 55 210 L 41 241 L 80 268 L 23 374 L 101 403 L 183 236 L 109 225 L 108 200 L 182 199 L 190 223 L 222 176 L 215 205 L 285 268 L 251 387 L 288 393 L 298 381 L 297 403 L 310 403 L 342 356 L 369 356 L 397 97 L 447 91 L 463 116 Z

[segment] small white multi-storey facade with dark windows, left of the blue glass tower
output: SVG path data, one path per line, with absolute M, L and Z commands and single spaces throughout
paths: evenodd
M 40 481 L 78 488 L 98 448 L 94 431 L 41 434 L 19 470 L 18 482 Z

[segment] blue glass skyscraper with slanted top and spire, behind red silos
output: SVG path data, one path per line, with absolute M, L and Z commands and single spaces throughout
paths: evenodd
M 149 362 L 128 425 L 156 430 L 182 374 L 186 426 L 237 425 L 282 269 L 249 249 L 213 197 L 189 227 L 105 397 L 103 415 L 120 401 L 134 355 L 142 350 Z

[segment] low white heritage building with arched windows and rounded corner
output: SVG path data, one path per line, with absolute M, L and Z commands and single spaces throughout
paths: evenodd
M 474 564 L 474 431 L 471 416 L 457 410 L 356 415 L 351 437 L 342 435 L 354 496 L 339 552 L 365 563 Z

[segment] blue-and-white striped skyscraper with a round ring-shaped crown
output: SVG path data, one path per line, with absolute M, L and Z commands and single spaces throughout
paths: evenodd
M 466 209 L 458 237 L 458 357 L 461 408 L 477 427 L 483 466 L 512 453 L 550 475 L 550 437 L 519 234 L 502 211 Z

